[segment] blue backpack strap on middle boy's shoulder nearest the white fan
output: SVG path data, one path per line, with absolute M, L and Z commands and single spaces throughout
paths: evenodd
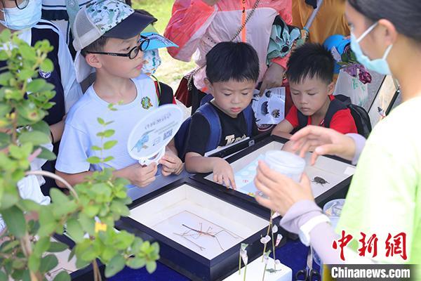
M 196 112 L 199 112 L 201 115 L 203 115 L 210 126 L 210 135 L 208 144 L 206 145 L 206 152 L 218 148 L 222 135 L 222 127 L 218 112 L 216 112 L 215 108 L 213 108 L 213 106 L 209 103 L 205 103 L 199 107 Z

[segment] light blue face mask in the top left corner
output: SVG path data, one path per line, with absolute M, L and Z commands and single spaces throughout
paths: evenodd
M 41 20 L 41 0 L 29 0 L 22 10 L 18 7 L 4 8 L 4 20 L 0 23 L 10 30 L 25 30 Z

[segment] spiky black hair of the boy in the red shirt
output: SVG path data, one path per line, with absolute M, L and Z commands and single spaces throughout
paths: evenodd
M 291 53 L 286 77 L 293 83 L 306 78 L 317 78 L 330 83 L 333 80 L 335 60 L 332 53 L 321 44 L 306 43 Z

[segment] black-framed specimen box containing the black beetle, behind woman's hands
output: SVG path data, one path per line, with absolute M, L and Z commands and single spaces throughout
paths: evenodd
M 215 183 L 212 173 L 196 174 L 192 178 L 206 185 L 214 186 L 221 192 L 241 198 L 249 203 L 247 208 L 250 211 L 255 211 L 258 208 L 265 209 L 254 198 L 256 192 L 258 192 L 254 184 L 258 161 L 264 161 L 265 153 L 269 150 L 281 150 L 286 141 L 288 140 L 278 136 L 267 136 L 265 140 L 241 150 L 232 157 L 228 157 L 226 160 L 234 171 L 236 190 L 227 189 L 227 187 Z M 307 152 L 305 156 L 305 174 L 311 181 L 316 203 L 322 205 L 328 200 L 344 198 L 349 188 L 349 183 L 351 183 L 355 166 L 344 159 L 333 156 L 319 156 L 316 164 L 311 166 L 310 157 L 311 152 Z M 265 210 L 267 213 L 265 216 L 269 216 L 269 210 Z

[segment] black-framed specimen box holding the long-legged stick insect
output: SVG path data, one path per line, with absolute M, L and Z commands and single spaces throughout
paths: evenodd
M 160 261 L 190 279 L 222 280 L 238 270 L 241 243 L 250 259 L 262 254 L 269 217 L 243 205 L 187 178 L 135 200 L 119 228 L 159 242 Z

